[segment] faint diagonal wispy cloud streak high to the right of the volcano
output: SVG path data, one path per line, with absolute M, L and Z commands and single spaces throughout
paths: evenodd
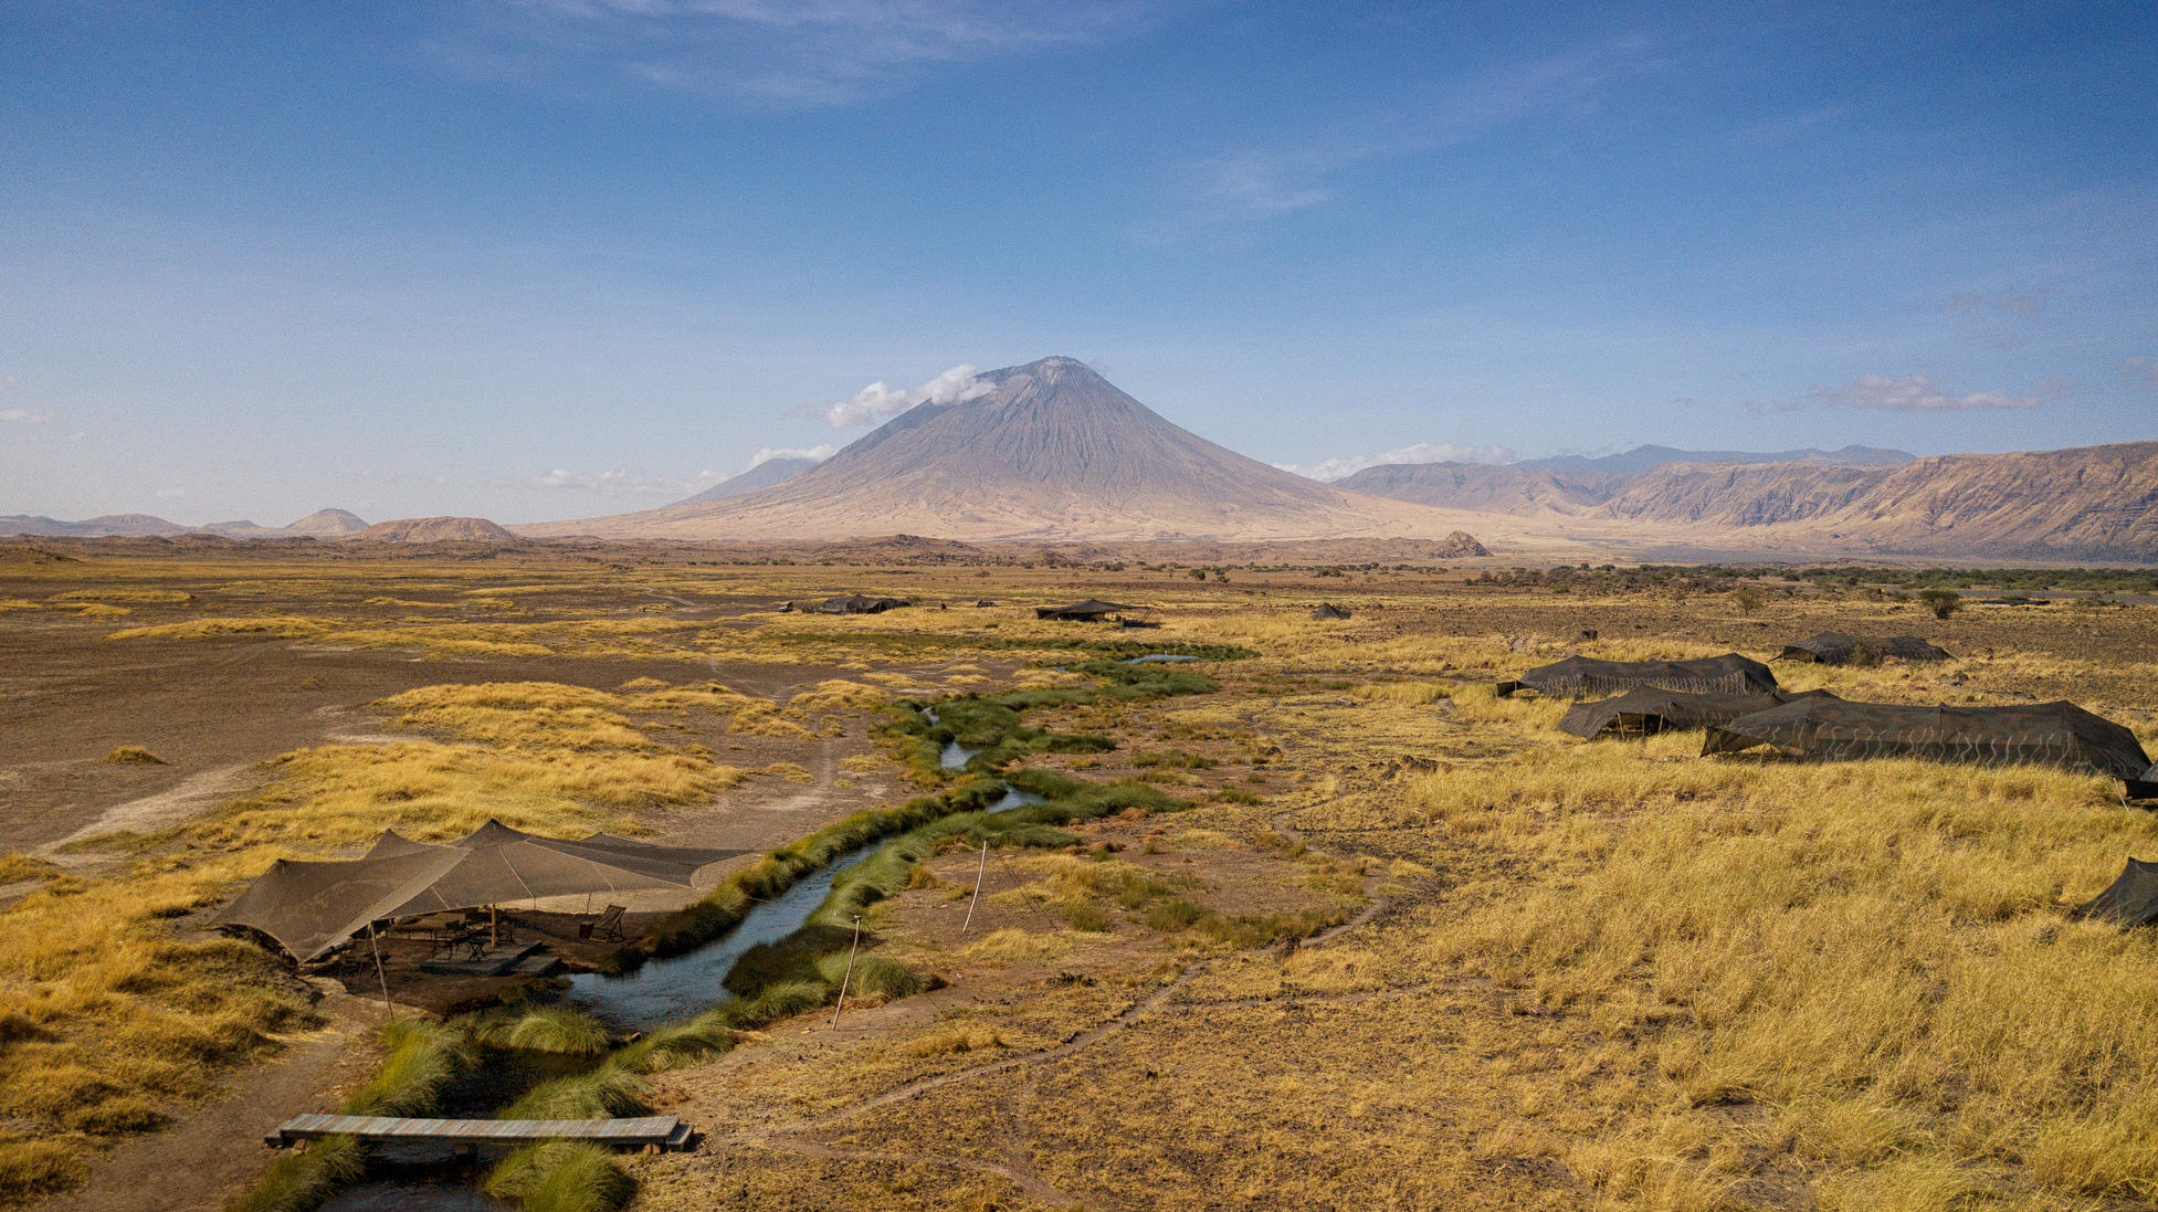
M 1623 37 L 1465 80 L 1437 99 L 1401 104 L 1299 140 L 1189 160 L 1172 170 L 1178 214 L 1135 235 L 1167 244 L 1193 229 L 1316 207 L 1336 196 L 1334 179 L 1355 164 L 1437 151 L 1524 121 L 1577 116 L 1616 80 L 1664 65 L 1649 39 Z

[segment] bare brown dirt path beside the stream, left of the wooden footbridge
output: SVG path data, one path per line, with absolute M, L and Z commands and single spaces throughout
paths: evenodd
M 373 1031 L 382 1003 L 330 994 L 317 1003 L 328 1024 L 287 1037 L 274 1061 L 233 1072 L 222 1091 L 190 1106 L 168 1128 L 91 1158 L 91 1182 L 39 1203 L 39 1212 L 216 1212 L 270 1162 L 263 1134 L 309 1111 L 328 1111 L 337 1091 L 380 1061 Z

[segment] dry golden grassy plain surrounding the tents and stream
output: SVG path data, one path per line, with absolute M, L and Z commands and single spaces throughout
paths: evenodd
M 1936 619 L 1893 569 L 54 552 L 0 556 L 6 1203 L 350 1199 L 356 1149 L 261 1134 L 440 1108 L 522 1052 L 578 1061 L 492 1111 L 704 1132 L 451 1175 L 529 1210 L 2158 1201 L 2158 936 L 2067 912 L 2158 858 L 2117 783 L 1582 742 L 1491 690 L 1921 634 L 1953 660 L 1776 673 L 2072 699 L 2152 746 L 2147 578 Z M 777 610 L 855 591 L 913 604 Z M 1034 617 L 1073 597 L 1159 625 Z M 1122 664 L 1148 651 L 1200 660 Z M 1047 800 L 999 824 L 991 779 Z M 686 912 L 632 904 L 639 953 L 889 845 L 639 1039 L 416 970 L 384 1029 L 371 966 L 207 929 L 274 858 L 490 817 L 749 852 Z

